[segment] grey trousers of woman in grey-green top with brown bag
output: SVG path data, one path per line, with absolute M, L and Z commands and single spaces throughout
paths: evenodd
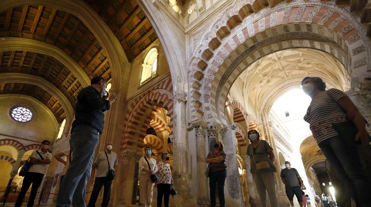
M 262 207 L 268 206 L 267 193 L 269 196 L 270 206 L 279 207 L 275 186 L 275 177 L 273 171 L 253 172 L 251 173 L 256 184 L 257 193 L 260 197 L 260 205 Z M 257 202 L 258 203 L 258 202 Z

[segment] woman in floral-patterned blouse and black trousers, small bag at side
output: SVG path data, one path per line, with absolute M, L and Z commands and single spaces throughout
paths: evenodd
M 158 182 L 155 184 L 157 187 L 157 207 L 162 205 L 162 196 L 164 196 L 164 206 L 169 207 L 169 197 L 171 185 L 173 185 L 173 177 L 171 176 L 170 164 L 167 161 L 170 160 L 167 153 L 161 154 L 162 161 L 157 163 L 157 175 Z

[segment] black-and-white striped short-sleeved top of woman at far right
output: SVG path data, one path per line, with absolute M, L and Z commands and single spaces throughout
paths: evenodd
M 338 136 L 338 133 L 332 127 L 332 123 L 347 121 L 344 109 L 337 103 L 340 98 L 347 96 L 347 94 L 338 89 L 329 89 L 328 93 L 324 91 L 308 107 L 304 116 L 304 120 L 309 123 L 309 128 L 317 144 L 328 138 Z

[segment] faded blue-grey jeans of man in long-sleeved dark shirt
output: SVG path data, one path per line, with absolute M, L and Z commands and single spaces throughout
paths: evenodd
M 70 148 L 73 154 L 70 166 L 59 187 L 57 207 L 85 207 L 86 183 L 90 178 L 94 151 L 99 141 L 99 131 L 86 124 L 73 128 Z

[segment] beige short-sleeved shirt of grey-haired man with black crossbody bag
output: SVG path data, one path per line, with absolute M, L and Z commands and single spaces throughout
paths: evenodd
M 117 165 L 117 154 L 111 151 L 111 153 L 107 151 L 102 151 L 98 154 L 98 156 L 95 159 L 96 164 L 98 164 L 98 171 L 96 172 L 95 177 L 107 177 L 108 173 L 108 161 L 107 156 L 109 160 L 109 167 L 111 167 L 111 170 L 114 170 L 114 167 Z

